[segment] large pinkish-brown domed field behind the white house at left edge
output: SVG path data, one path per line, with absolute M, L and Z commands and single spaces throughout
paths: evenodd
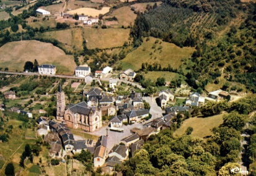
M 40 41 L 14 41 L 4 44 L 0 48 L 1 67 L 8 67 L 10 71 L 23 71 L 26 61 L 37 59 L 39 64 L 53 64 L 58 73 L 73 74 L 76 64 L 74 57 L 66 55 L 64 51 L 51 43 Z

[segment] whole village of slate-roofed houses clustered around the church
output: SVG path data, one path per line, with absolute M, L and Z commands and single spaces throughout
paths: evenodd
M 55 75 L 56 67 L 51 64 L 43 64 L 38 67 L 39 75 Z M 108 88 L 105 91 L 95 86 L 90 90 L 82 91 L 82 96 L 87 100 L 77 104 L 66 104 L 66 95 L 58 83 L 58 91 L 54 95 L 56 99 L 56 118 L 40 116 L 37 119 L 37 136 L 42 136 L 43 141 L 50 145 L 48 156 L 56 159 L 65 159 L 81 153 L 82 150 L 93 154 L 94 167 L 102 168 L 104 173 L 113 174 L 115 166 L 126 161 L 137 149 L 141 149 L 144 142 L 151 135 L 159 133 L 166 128 L 172 128 L 177 123 L 177 114 L 184 115 L 193 111 L 193 107 L 200 107 L 206 101 L 219 101 L 231 99 L 226 91 L 216 90 L 201 96 L 199 93 L 190 92 L 182 106 L 175 105 L 177 96 L 175 91 L 166 88 L 157 94 L 145 95 L 130 90 L 130 94 L 113 94 L 121 81 L 133 82 L 136 73 L 125 70 L 118 73 L 119 77 L 111 78 L 113 70 L 105 67 L 103 70 L 90 73 L 88 65 L 80 65 L 74 70 L 76 77 L 84 78 L 86 84 L 97 80 L 108 80 Z M 15 99 L 14 91 L 5 91 L 5 99 Z M 148 103 L 150 107 L 145 105 Z M 1 104 L 1 110 L 4 104 Z M 27 115 L 33 114 L 18 107 L 11 107 L 9 111 Z M 40 110 L 43 111 L 43 110 Z M 110 120 L 102 120 L 102 117 L 110 117 Z M 82 138 L 74 135 L 70 129 L 80 130 L 81 133 L 92 133 L 99 136 L 98 140 Z

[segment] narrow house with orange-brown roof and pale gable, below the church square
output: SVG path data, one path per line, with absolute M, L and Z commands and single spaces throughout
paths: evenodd
M 100 136 L 95 146 L 94 167 L 100 167 L 107 158 L 107 136 Z

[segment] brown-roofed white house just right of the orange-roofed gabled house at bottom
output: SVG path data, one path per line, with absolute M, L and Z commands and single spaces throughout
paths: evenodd
M 125 161 L 126 159 L 128 159 L 128 156 L 129 156 L 128 147 L 124 145 L 115 145 L 111 149 L 108 156 L 109 157 L 116 156 L 120 159 L 120 161 Z

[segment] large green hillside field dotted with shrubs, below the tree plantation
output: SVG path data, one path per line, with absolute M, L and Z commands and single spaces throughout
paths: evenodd
M 130 52 L 126 55 L 125 59 L 121 60 L 119 63 L 125 62 L 126 64 L 133 65 L 135 70 L 141 69 L 141 64 L 143 62 L 148 62 L 148 64 L 161 64 L 161 67 L 168 67 L 170 64 L 174 69 L 179 68 L 182 64 L 182 59 L 192 56 L 195 48 L 183 47 L 179 48 L 173 43 L 167 43 L 159 40 L 159 43 L 155 44 L 156 38 L 149 38 L 149 41 L 144 40 L 143 44 L 135 51 Z M 161 44 L 160 44 L 161 43 Z M 155 46 L 156 48 L 152 48 Z M 162 49 L 159 49 L 161 48 Z

